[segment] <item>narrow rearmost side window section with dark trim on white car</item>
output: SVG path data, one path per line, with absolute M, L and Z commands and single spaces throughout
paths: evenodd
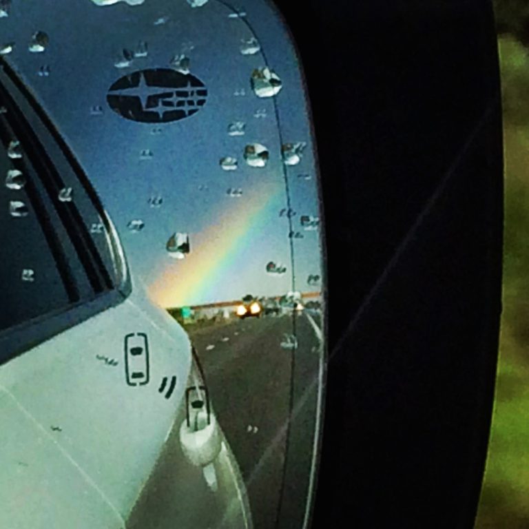
M 121 244 L 83 169 L 8 65 L 0 76 L 6 119 L 17 141 L 27 144 L 32 161 L 37 163 L 43 194 L 51 201 L 69 243 L 81 258 L 92 290 L 101 293 L 123 287 L 127 267 Z

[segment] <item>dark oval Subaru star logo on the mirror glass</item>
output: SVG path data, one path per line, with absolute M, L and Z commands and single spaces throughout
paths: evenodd
M 169 123 L 196 114 L 206 103 L 207 88 L 191 74 L 157 68 L 118 79 L 108 91 L 110 108 L 141 123 Z

